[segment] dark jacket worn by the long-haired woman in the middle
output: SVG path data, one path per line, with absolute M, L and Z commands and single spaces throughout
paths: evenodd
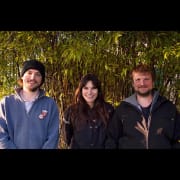
M 110 119 L 114 112 L 111 104 L 105 103 Z M 69 106 L 64 113 L 62 124 L 62 133 L 65 143 L 70 149 L 103 149 L 105 148 L 105 140 L 107 138 L 107 126 L 105 127 L 101 119 L 95 120 L 91 118 L 93 109 L 88 110 L 89 119 L 79 129 L 70 118 L 72 106 Z M 110 121 L 109 119 L 109 121 Z M 77 120 L 78 121 L 78 120 Z

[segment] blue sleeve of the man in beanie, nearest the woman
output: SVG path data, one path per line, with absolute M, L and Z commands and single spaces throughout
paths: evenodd
M 60 118 L 58 106 L 54 100 L 52 102 L 50 118 L 47 138 L 42 149 L 58 149 Z

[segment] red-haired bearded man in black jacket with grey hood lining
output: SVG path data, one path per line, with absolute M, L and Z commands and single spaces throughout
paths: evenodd
M 140 64 L 131 72 L 135 93 L 116 108 L 108 126 L 106 148 L 171 149 L 180 147 L 180 115 L 154 88 L 155 73 Z

